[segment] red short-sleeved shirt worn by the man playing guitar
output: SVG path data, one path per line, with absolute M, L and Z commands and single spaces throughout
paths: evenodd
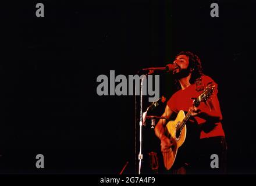
M 207 87 L 208 83 L 215 84 L 215 92 L 214 94 L 212 94 L 212 102 L 214 102 L 215 110 L 218 111 L 219 117 L 222 120 L 221 109 L 219 107 L 219 101 L 217 97 L 218 84 L 216 84 L 214 80 L 212 80 L 212 78 L 209 76 L 202 76 L 201 80 L 202 80 L 202 84 L 204 85 L 204 88 Z M 191 98 L 197 98 L 202 93 L 202 91 L 203 90 L 197 91 L 195 84 L 191 84 L 189 87 L 185 88 L 184 90 L 179 90 L 175 92 L 175 94 L 173 94 L 172 97 L 169 99 L 167 105 L 175 113 L 178 113 L 180 110 L 183 110 L 184 112 L 188 112 L 189 108 L 193 105 L 193 99 Z M 204 102 L 201 102 L 198 108 L 201 110 L 208 110 L 208 112 L 210 112 L 209 107 Z M 195 116 L 194 119 L 196 120 L 196 122 L 194 121 L 194 123 L 197 123 L 200 127 L 201 139 L 216 137 L 216 136 L 225 136 L 221 121 L 217 123 L 211 123 L 211 121 L 206 121 L 205 119 L 202 119 L 199 116 Z M 193 121 L 191 122 L 192 122 L 191 124 L 193 124 Z

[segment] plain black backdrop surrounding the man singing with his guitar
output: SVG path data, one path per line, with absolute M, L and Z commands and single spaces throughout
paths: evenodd
M 134 96 L 98 96 L 97 77 L 189 50 L 219 84 L 228 173 L 255 174 L 254 1 L 40 1 L 36 17 L 38 2 L 1 5 L 1 173 L 118 174 L 126 162 L 123 173 L 136 173 Z M 161 74 L 168 98 L 169 78 Z M 147 167 L 159 140 L 143 131 Z

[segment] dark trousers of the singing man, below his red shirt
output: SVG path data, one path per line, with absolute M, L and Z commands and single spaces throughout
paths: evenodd
M 165 174 L 226 174 L 225 137 L 191 141 L 184 149 L 180 149 L 175 165 Z

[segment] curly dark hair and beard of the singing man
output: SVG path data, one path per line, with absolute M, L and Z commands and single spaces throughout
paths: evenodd
M 194 84 L 197 78 L 200 78 L 202 75 L 204 75 L 202 73 L 202 64 L 200 58 L 190 51 L 182 51 L 178 53 L 175 58 L 177 58 L 177 56 L 179 55 L 186 55 L 189 57 L 189 68 L 194 69 L 191 73 L 190 83 Z M 175 84 L 177 85 L 177 89 L 179 90 L 181 87 L 177 80 L 175 81 Z

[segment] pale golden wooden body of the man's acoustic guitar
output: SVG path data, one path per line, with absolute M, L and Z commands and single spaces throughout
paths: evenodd
M 177 131 L 177 126 L 183 121 L 185 117 L 185 113 L 183 110 L 180 110 L 176 119 L 174 121 L 169 121 L 166 124 L 166 128 L 168 130 L 168 137 L 170 138 L 170 142 L 173 144 L 171 146 L 171 150 L 169 152 L 163 152 L 163 163 L 165 164 L 165 168 L 169 170 L 173 163 L 175 162 L 175 158 L 177 155 L 177 149 L 182 146 L 186 139 L 187 128 L 186 125 L 179 132 Z

